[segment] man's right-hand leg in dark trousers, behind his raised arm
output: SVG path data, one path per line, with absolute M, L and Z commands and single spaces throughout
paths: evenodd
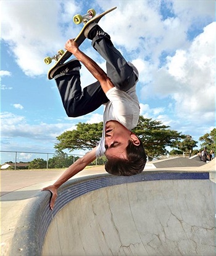
M 89 30 L 88 38 L 92 40 L 94 49 L 106 60 L 107 76 L 115 87 L 127 91 L 134 86 L 138 77 L 122 54 L 115 48 L 110 36 L 99 25 L 95 25 Z

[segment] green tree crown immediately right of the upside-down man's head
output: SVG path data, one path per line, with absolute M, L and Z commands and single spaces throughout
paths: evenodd
M 170 126 L 163 125 L 161 121 L 139 116 L 133 132 L 140 137 L 150 159 L 167 154 L 167 146 L 174 147 L 177 140 L 184 138 L 181 133 L 168 128 Z

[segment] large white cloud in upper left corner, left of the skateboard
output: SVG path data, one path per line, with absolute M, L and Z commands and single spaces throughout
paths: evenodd
M 72 22 L 78 5 L 74 1 L 3 1 L 1 7 L 1 38 L 17 64 L 27 76 L 46 74 L 50 67 L 43 58 L 64 48 L 65 33 L 71 30 L 65 30 L 63 22 Z

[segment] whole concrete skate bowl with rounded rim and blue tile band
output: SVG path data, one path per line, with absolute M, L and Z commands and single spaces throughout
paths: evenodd
M 10 255 L 215 255 L 209 176 L 143 172 L 69 180 L 53 211 L 49 192 L 25 209 Z

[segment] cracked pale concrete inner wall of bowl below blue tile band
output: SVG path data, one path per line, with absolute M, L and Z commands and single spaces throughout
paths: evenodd
M 215 184 L 156 180 L 101 188 L 53 219 L 42 255 L 215 255 Z

